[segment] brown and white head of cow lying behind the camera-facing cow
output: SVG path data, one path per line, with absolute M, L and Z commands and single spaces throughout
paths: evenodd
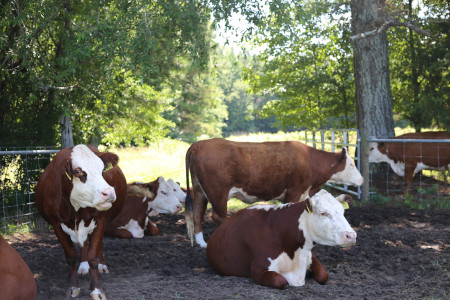
M 149 183 L 131 183 L 128 185 L 127 192 L 146 197 L 147 213 L 153 209 L 162 214 L 174 214 L 183 208 L 175 197 L 172 186 L 163 177 L 158 177 L 157 180 Z

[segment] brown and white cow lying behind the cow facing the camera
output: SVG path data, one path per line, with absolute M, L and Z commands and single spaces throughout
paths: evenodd
M 129 183 L 122 210 L 114 218 L 107 218 L 105 235 L 123 239 L 143 238 L 144 233 L 151 236 L 158 235 L 158 227 L 148 218 L 150 211 L 174 214 L 182 208 L 172 186 L 164 180 L 164 177 L 158 177 L 149 183 Z M 87 247 L 83 247 L 78 274 L 85 275 L 88 271 Z M 109 273 L 103 253 L 100 255 L 99 271 Z

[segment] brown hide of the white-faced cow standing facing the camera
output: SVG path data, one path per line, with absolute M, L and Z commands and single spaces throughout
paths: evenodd
M 71 152 L 73 147 L 59 151 L 48 167 L 44 170 L 36 188 L 36 206 L 42 217 L 53 226 L 53 230 L 61 243 L 67 263 L 69 265 L 69 286 L 66 296 L 76 296 L 74 288 L 78 287 L 76 271 L 77 252 L 70 237 L 62 230 L 61 223 L 70 229 L 74 229 L 75 224 L 84 220 L 85 224 L 96 223 L 96 228 L 89 235 L 89 248 L 87 258 L 91 268 L 90 289 L 98 288 L 102 291 L 98 277 L 98 263 L 102 256 L 102 238 L 104 233 L 105 219 L 107 213 L 117 213 L 121 210 L 126 195 L 126 179 L 120 168 L 117 166 L 118 156 L 113 153 L 99 152 L 93 147 L 89 149 L 94 152 L 108 167 L 112 169 L 103 172 L 105 181 L 115 189 L 116 201 L 107 211 L 99 212 L 95 208 L 86 207 L 75 211 L 70 203 L 70 193 L 72 191 L 72 181 L 69 178 L 71 173 Z M 69 177 L 66 172 L 69 173 Z M 88 243 L 86 241 L 86 244 Z

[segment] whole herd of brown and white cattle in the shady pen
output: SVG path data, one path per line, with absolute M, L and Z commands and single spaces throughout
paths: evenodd
M 404 138 L 450 136 L 441 132 Z M 431 152 L 437 145 L 424 145 L 373 144 L 369 159 L 390 163 L 405 177 L 408 189 L 418 170 L 450 166 L 448 148 L 436 156 Z M 78 274 L 90 272 L 91 298 L 106 299 L 99 280 L 99 273 L 108 272 L 103 235 L 126 239 L 157 235 L 159 229 L 149 215 L 179 212 L 183 202 L 191 243 L 207 247 L 211 267 L 221 275 L 252 277 L 260 285 L 302 286 L 308 270 L 317 282 L 325 283 L 328 273 L 312 252 L 314 245 L 348 247 L 356 242 L 344 217 L 351 197 L 333 197 L 320 189 L 326 182 L 363 184 L 346 148 L 331 153 L 297 141 L 196 142 L 186 153 L 186 189 L 162 177 L 127 184 L 118 160 L 113 153 L 78 145 L 59 151 L 39 179 L 37 208 L 52 225 L 69 266 L 66 297 L 79 295 Z M 227 218 L 229 198 L 246 203 L 277 199 L 285 204 L 249 206 Z M 218 228 L 206 244 L 202 222 L 208 202 Z M 76 246 L 81 249 L 78 268 Z M 5 299 L 36 297 L 31 270 L 1 236 L 0 290 Z

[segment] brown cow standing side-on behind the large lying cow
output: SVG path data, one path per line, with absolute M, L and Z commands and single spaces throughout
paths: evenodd
M 206 247 L 203 215 L 209 201 L 220 225 L 227 201 L 246 203 L 277 199 L 297 202 L 313 196 L 326 182 L 362 185 L 364 179 L 343 148 L 331 153 L 298 141 L 247 143 L 224 139 L 199 141 L 186 153 L 186 180 L 191 172 L 194 197 L 186 196 L 186 225 L 193 242 Z

